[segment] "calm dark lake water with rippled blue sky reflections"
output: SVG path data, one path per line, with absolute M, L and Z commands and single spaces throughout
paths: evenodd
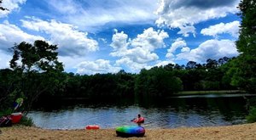
M 180 96 L 162 101 L 119 101 L 102 103 L 76 101 L 49 105 L 28 114 L 36 126 L 48 129 L 83 129 L 87 125 L 115 128 L 135 125 L 137 114 L 145 117 L 146 128 L 226 126 L 245 123 L 246 99 L 251 95 Z

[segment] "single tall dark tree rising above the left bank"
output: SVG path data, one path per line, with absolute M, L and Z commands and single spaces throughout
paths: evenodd
M 43 92 L 54 92 L 61 86 L 60 73 L 63 65 L 58 61 L 56 45 L 49 45 L 44 41 L 35 41 L 32 44 L 20 42 L 11 48 L 13 59 L 10 60 L 10 68 L 19 78 L 15 87 L 18 94 L 25 98 L 25 109 L 29 111 L 32 103 Z

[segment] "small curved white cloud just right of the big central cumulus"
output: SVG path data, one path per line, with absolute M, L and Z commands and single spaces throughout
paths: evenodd
M 175 53 L 177 48 L 188 49 L 187 43 L 182 38 L 177 38 L 175 42 L 172 43 L 172 46 L 167 49 L 166 58 L 172 59 L 174 57 L 173 53 Z

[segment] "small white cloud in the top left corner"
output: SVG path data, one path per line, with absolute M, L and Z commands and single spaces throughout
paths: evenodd
M 15 10 L 20 9 L 20 4 L 26 3 L 26 0 L 3 0 L 2 7 L 7 8 L 8 10 L 4 10 L 0 12 L 0 18 L 7 16 Z

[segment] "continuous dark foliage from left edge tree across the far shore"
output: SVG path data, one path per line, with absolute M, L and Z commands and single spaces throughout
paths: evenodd
M 207 64 L 193 61 L 186 65 L 167 64 L 141 70 L 139 74 L 120 70 L 116 74 L 87 76 L 61 72 L 62 65 L 56 61 L 54 53 L 56 46 L 49 49 L 40 47 L 48 48 L 49 44 L 36 41 L 33 46 L 21 42 L 12 48 L 12 69 L 0 70 L 0 79 L 3 79 L 0 81 L 1 109 L 7 109 L 15 98 L 20 97 L 26 101 L 24 108 L 29 110 L 37 100 L 165 98 L 180 91 L 236 89 L 230 86 L 231 77 L 226 73 L 230 67 L 229 62 L 234 59 L 226 57 L 218 60 L 207 59 Z M 22 63 L 17 63 L 18 60 Z

